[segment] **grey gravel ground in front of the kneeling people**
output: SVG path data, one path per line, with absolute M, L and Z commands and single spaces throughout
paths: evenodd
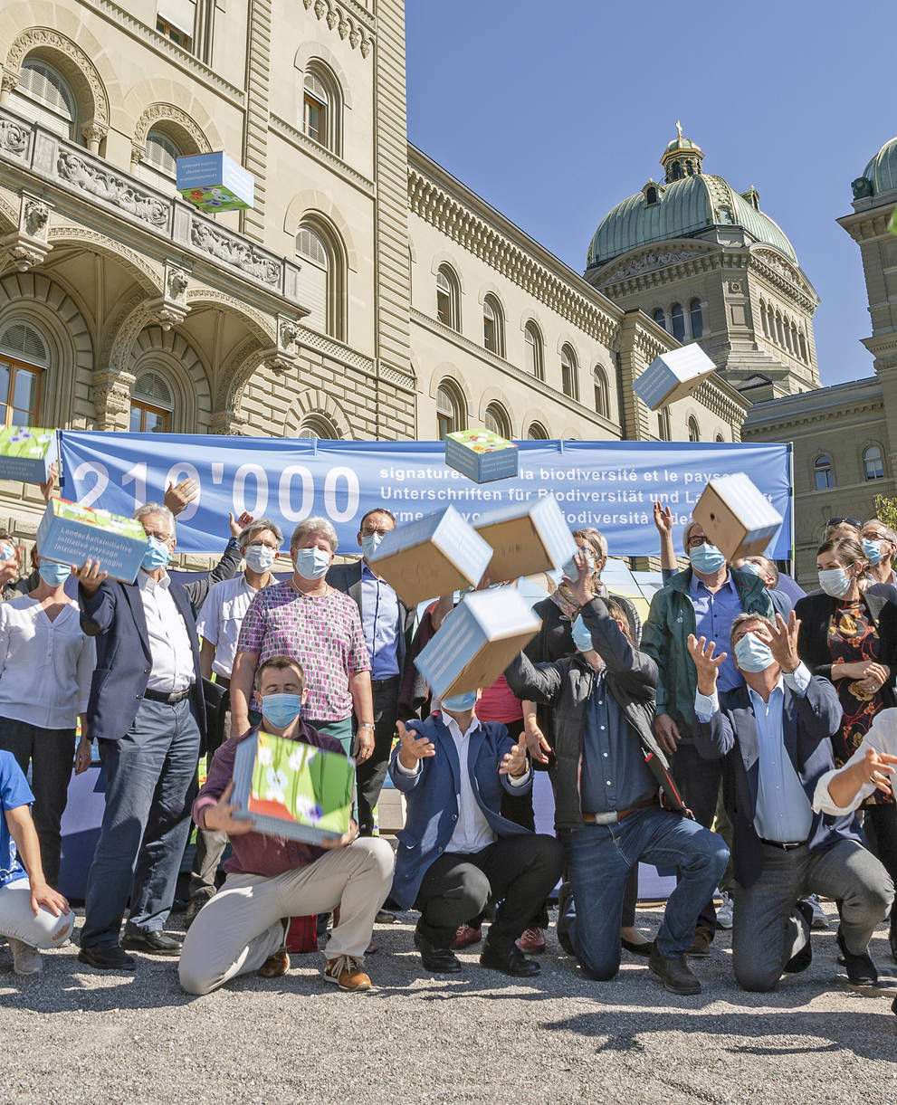
M 830 918 L 833 914 L 829 904 Z M 651 935 L 658 909 L 642 909 Z M 173 964 L 138 956 L 134 974 L 78 964 L 70 945 L 38 979 L 0 948 L 0 1101 L 210 1102 L 812 1102 L 897 1099 L 893 994 L 862 994 L 835 964 L 834 925 L 813 934 L 813 964 L 772 994 L 740 993 L 729 934 L 693 960 L 704 991 L 675 998 L 624 954 L 612 982 L 583 979 L 553 925 L 542 974 L 424 974 L 414 916 L 376 929 L 376 989 L 346 994 L 319 955 L 283 978 L 255 976 L 189 998 Z M 171 930 L 177 930 L 172 918 Z M 886 930 L 873 953 L 897 989 Z

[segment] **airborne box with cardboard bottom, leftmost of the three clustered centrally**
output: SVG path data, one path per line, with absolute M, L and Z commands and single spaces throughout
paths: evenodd
M 475 587 L 492 549 L 453 506 L 391 530 L 369 564 L 408 607 Z

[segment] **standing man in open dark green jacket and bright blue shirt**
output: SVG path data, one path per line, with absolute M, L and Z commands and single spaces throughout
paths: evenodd
M 688 522 L 683 535 L 689 567 L 675 575 L 654 596 L 642 631 L 642 651 L 657 663 L 657 744 L 673 755 L 673 770 L 695 819 L 709 829 L 716 813 L 721 761 L 701 759 L 692 739 L 695 725 L 697 672 L 688 653 L 688 634 L 717 642 L 717 653 L 728 652 L 729 633 L 740 613 L 772 617 L 763 581 L 747 571 L 729 568 L 725 556 L 709 543 L 699 523 Z M 728 656 L 719 669 L 724 691 L 743 680 Z M 675 755 L 674 755 L 675 754 Z M 716 932 L 713 899 L 701 909 L 689 955 L 709 955 Z

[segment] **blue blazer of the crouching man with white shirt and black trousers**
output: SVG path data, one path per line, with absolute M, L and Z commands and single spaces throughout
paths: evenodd
M 408 799 L 405 827 L 397 833 L 399 848 L 395 853 L 395 875 L 392 880 L 392 898 L 403 909 L 410 908 L 418 896 L 421 880 L 430 864 L 445 851 L 457 825 L 461 804 L 461 770 L 457 748 L 441 715 L 433 714 L 425 722 L 405 723 L 422 737 L 435 745 L 436 755 L 421 760 L 421 770 L 413 776 L 402 775 L 395 765 L 399 747 L 393 749 L 389 774 L 397 790 Z M 528 833 L 529 829 L 503 818 L 502 794 L 526 794 L 532 778 L 520 787 L 511 787 L 507 776 L 498 774 L 498 765 L 514 747 L 508 730 L 498 722 L 481 722 L 479 728 L 467 738 L 467 762 L 471 783 L 477 803 L 498 836 Z

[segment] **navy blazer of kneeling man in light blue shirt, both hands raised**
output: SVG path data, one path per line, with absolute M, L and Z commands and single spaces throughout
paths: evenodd
M 784 746 L 808 801 L 812 803 L 820 776 L 835 764 L 831 737 L 841 728 L 841 703 L 829 682 L 814 675 L 803 698 L 785 686 L 782 704 Z M 747 686 L 719 696 L 719 709 L 709 722 L 695 718 L 695 748 L 705 759 L 725 757 L 724 799 L 732 822 L 735 877 L 751 886 L 763 870 L 763 846 L 753 818 L 760 779 L 760 741 Z M 841 840 L 862 843 L 856 818 L 813 813 L 806 843 L 811 850 L 831 848 Z

